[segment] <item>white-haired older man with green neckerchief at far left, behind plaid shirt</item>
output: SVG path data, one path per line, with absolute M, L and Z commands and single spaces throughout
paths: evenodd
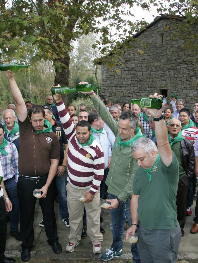
M 4 138 L 14 143 L 17 150 L 19 148 L 19 127 L 18 122 L 16 122 L 16 114 L 12 109 L 6 109 L 3 111 L 4 118 Z

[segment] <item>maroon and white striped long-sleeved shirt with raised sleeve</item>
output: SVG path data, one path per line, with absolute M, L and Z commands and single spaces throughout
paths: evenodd
M 60 120 L 68 140 L 68 182 L 75 188 L 90 188 L 94 195 L 104 177 L 104 153 L 96 140 L 91 145 L 82 146 L 77 138 L 75 126 L 63 103 L 56 103 Z

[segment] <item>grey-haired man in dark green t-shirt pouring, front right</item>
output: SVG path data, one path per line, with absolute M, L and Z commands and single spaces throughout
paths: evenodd
M 158 148 L 144 137 L 131 146 L 140 167 L 134 177 L 132 225 L 126 239 L 138 229 L 137 247 L 142 263 L 176 263 L 181 240 L 176 206 L 179 163 L 168 141 L 162 109 L 144 108 L 153 116 Z

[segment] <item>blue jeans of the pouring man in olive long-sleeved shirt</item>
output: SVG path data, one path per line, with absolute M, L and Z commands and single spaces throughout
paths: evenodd
M 116 195 L 109 195 L 109 199 L 115 198 L 117 198 Z M 111 225 L 113 234 L 113 243 L 111 247 L 116 251 L 123 248 L 122 234 L 124 233 L 126 217 L 128 218 L 129 226 L 131 226 L 130 202 L 131 199 L 128 197 L 123 205 L 119 205 L 116 209 L 111 209 Z M 133 256 L 132 259 L 137 263 L 141 263 L 137 250 L 137 243 L 131 245 L 131 253 Z

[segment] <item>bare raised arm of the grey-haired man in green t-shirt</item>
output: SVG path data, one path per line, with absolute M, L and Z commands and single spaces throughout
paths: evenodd
M 152 96 L 152 97 L 157 98 L 159 96 Z M 154 117 L 154 119 L 158 119 L 161 117 L 163 106 L 164 104 L 162 104 L 162 108 L 160 110 L 147 109 L 147 108 L 144 108 L 144 110 L 149 112 Z M 164 123 L 163 119 L 159 121 L 154 120 L 154 124 L 155 124 L 155 135 L 156 135 L 158 152 L 162 162 L 168 167 L 172 162 L 173 155 L 172 155 L 170 143 L 168 141 L 166 124 Z

